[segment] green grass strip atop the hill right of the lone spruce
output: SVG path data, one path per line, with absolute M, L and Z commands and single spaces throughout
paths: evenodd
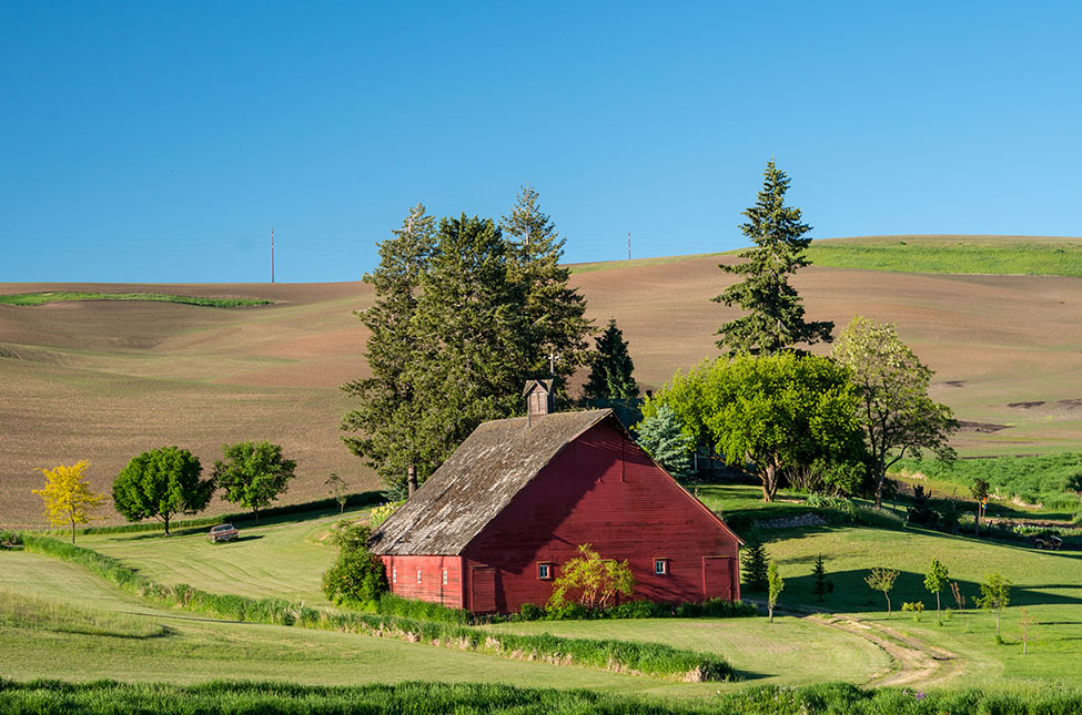
M 1082 277 L 1082 239 L 1028 236 L 869 236 L 813 241 L 817 266 L 901 273 Z

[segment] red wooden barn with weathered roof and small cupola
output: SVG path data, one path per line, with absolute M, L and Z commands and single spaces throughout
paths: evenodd
M 625 559 L 636 599 L 740 597 L 740 540 L 629 437 L 611 410 L 485 422 L 372 535 L 392 592 L 474 613 L 543 605 L 589 542 Z

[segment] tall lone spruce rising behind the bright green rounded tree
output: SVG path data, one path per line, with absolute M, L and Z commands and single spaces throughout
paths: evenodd
M 728 347 L 729 356 L 744 351 L 772 355 L 802 343 L 829 343 L 835 327 L 829 320 L 805 320 L 803 302 L 789 285 L 789 275 L 810 265 L 805 251 L 811 244 L 807 236 L 811 226 L 801 223 L 799 208 L 785 205 L 789 177 L 772 159 L 764 177 L 756 205 L 744 212 L 748 222 L 740 225 L 755 247 L 738 254 L 746 263 L 718 266 L 744 279 L 714 300 L 748 313 L 718 329 L 717 345 Z

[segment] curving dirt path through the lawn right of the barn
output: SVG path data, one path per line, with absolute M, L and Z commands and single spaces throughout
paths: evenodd
M 754 601 L 755 602 L 755 601 Z M 765 606 L 765 603 L 755 602 Z M 884 685 L 929 686 L 958 675 L 961 664 L 950 651 L 931 646 L 894 629 L 872 621 L 827 611 L 792 611 L 775 606 L 775 613 L 803 619 L 826 627 L 846 631 L 874 644 L 890 657 L 891 667 L 876 673 L 866 683 L 871 687 Z

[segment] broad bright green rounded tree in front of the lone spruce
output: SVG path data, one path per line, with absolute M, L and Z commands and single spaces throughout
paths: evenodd
M 859 435 L 849 370 L 793 353 L 706 361 L 646 401 L 647 418 L 667 405 L 695 440 L 762 483 L 773 501 L 782 469 L 845 452 Z

